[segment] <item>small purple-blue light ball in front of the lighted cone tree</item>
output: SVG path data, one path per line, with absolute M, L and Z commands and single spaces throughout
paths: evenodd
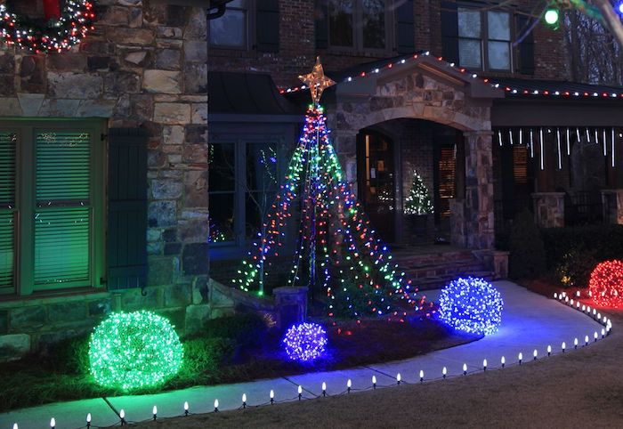
M 322 356 L 327 346 L 327 332 L 317 323 L 298 323 L 281 340 L 290 360 L 310 362 Z

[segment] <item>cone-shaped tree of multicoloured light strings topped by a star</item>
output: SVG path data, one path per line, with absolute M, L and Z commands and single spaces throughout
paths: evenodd
M 271 271 L 282 271 L 289 256 L 285 286 L 306 286 L 312 296 L 323 296 L 328 316 L 403 319 L 417 304 L 416 289 L 392 263 L 344 178 L 319 104 L 333 81 L 324 76 L 320 60 L 301 79 L 312 91 L 312 105 L 285 181 L 263 219 L 265 233 L 258 234 L 233 282 L 262 295 L 264 281 L 277 277 Z M 298 228 L 288 229 L 289 223 Z M 292 242 L 294 251 L 287 252 Z

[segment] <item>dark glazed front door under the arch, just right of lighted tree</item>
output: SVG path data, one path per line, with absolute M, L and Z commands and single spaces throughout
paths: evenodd
M 357 142 L 359 199 L 384 241 L 395 238 L 393 143 L 383 134 L 361 132 Z

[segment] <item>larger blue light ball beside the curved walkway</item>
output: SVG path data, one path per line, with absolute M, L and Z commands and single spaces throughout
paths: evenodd
M 459 278 L 441 290 L 439 318 L 470 334 L 489 336 L 502 322 L 504 301 L 498 289 L 481 278 Z

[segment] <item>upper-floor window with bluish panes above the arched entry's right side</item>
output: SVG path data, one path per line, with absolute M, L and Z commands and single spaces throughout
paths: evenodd
M 511 69 L 510 13 L 457 9 L 458 60 L 468 69 Z

